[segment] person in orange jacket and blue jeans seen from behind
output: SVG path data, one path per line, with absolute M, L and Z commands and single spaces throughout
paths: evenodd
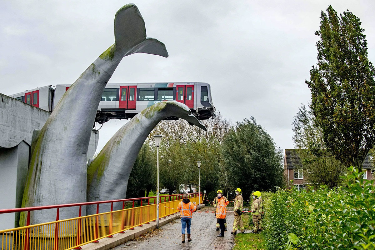
M 183 200 L 178 204 L 177 210 L 180 211 L 181 217 L 181 236 L 182 236 L 182 243 L 185 243 L 185 228 L 187 228 L 187 241 L 191 241 L 190 238 L 190 225 L 191 225 L 191 217 L 193 212 L 196 210 L 195 202 L 190 202 L 187 199 L 187 194 L 184 193 L 182 196 Z

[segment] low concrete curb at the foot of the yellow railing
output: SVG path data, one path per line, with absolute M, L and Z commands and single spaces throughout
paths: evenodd
M 205 205 L 201 204 L 201 208 L 204 208 Z M 197 208 L 198 209 L 198 208 Z M 171 214 L 165 218 L 159 220 L 159 227 L 163 226 L 175 219 L 180 218 L 180 213 Z M 126 230 L 124 234 L 114 234 L 113 238 L 103 238 L 99 240 L 99 243 L 88 243 L 81 246 L 84 250 L 109 250 L 114 247 L 120 246 L 127 241 L 133 240 L 139 235 L 145 234 L 148 230 L 155 229 L 156 222 L 150 222 L 150 224 L 143 224 L 142 226 L 137 226 L 134 230 Z

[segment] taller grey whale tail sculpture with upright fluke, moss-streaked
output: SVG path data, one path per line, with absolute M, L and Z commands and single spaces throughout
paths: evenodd
M 115 43 L 65 92 L 42 129 L 34 131 L 23 207 L 86 201 L 86 153 L 105 85 L 126 55 L 168 57 L 162 42 L 146 37 L 144 20 L 134 4 L 117 11 L 114 36 Z M 74 216 L 78 216 L 76 208 L 60 211 L 60 219 Z M 30 223 L 54 218 L 54 211 L 33 211 Z M 21 213 L 20 226 L 25 223 Z

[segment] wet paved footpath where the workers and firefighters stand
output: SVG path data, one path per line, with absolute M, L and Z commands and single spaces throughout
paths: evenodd
M 201 211 L 214 211 L 214 208 L 202 208 Z M 117 246 L 115 250 L 230 250 L 234 245 L 234 236 L 230 234 L 233 227 L 234 214 L 228 213 L 226 223 L 228 231 L 224 237 L 216 237 L 220 231 L 216 229 L 216 218 L 213 213 L 193 213 L 191 223 L 192 241 L 181 243 L 181 220 L 177 219 L 157 230 L 156 234 L 148 234 L 142 240 L 132 240 Z M 152 236 L 151 236 L 152 235 Z

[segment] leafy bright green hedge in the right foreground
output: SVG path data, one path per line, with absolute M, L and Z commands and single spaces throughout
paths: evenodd
M 346 187 L 262 194 L 266 248 L 375 249 L 374 181 L 348 172 Z

